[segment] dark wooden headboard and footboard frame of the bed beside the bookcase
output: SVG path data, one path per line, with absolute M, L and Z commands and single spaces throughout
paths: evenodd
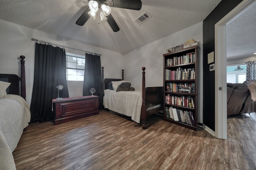
M 141 108 L 141 121 L 142 128 L 146 129 L 146 119 L 149 115 L 163 110 L 163 87 L 147 87 L 145 88 L 145 67 L 142 67 L 142 108 Z M 102 67 L 102 82 L 104 90 L 106 90 L 108 82 L 124 80 L 124 70 L 122 70 L 122 79 L 105 78 L 104 67 Z M 103 90 L 103 91 L 104 91 Z M 149 107 L 160 105 L 152 110 L 147 111 Z

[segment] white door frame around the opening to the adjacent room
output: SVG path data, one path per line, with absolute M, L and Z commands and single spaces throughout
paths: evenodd
M 243 0 L 215 24 L 215 137 L 219 139 L 227 139 L 226 25 L 255 3 Z

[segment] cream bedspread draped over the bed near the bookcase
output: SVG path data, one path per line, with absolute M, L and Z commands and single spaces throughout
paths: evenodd
M 133 121 L 140 123 L 142 90 L 115 92 L 106 89 L 104 90 L 103 105 L 107 109 L 130 116 Z

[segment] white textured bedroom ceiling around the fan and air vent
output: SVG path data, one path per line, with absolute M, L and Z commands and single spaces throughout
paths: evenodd
M 1 0 L 0 19 L 124 54 L 203 21 L 220 1 L 142 0 L 140 11 L 111 8 L 118 32 L 107 21 L 98 23 L 92 18 L 83 26 L 76 25 L 88 0 Z M 134 20 L 144 12 L 152 18 L 138 25 Z

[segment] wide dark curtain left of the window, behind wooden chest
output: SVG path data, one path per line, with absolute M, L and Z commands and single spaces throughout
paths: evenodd
M 56 86 L 62 84 L 59 96 L 67 98 L 66 52 L 60 47 L 36 43 L 34 85 L 31 100 L 31 123 L 53 119 L 52 99 L 58 97 Z

